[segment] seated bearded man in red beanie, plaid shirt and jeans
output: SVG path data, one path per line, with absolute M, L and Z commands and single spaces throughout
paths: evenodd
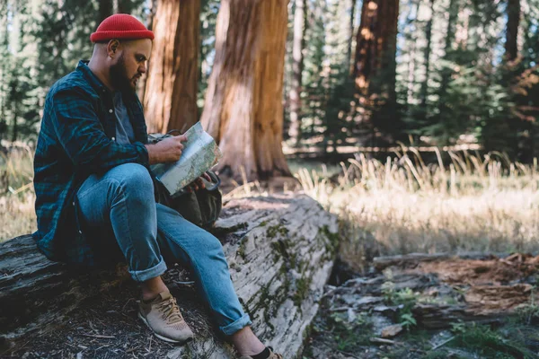
M 252 333 L 220 242 L 155 203 L 149 166 L 178 161 L 186 137 L 147 144 L 135 89 L 153 32 L 115 14 L 90 39 L 90 61 L 57 81 L 45 101 L 34 160 L 38 248 L 52 260 L 87 265 L 110 263 L 120 253 L 142 289 L 138 316 L 173 343 L 193 333 L 161 275 L 165 259 L 184 263 L 242 358 L 282 358 Z

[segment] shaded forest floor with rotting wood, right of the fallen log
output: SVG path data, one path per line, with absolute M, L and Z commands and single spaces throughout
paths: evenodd
M 539 357 L 538 265 L 412 260 L 327 285 L 303 358 Z

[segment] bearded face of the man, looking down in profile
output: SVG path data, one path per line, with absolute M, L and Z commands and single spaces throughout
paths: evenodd
M 110 84 L 120 91 L 135 92 L 138 80 L 146 73 L 152 40 L 122 41 L 117 52 L 117 61 L 110 66 Z

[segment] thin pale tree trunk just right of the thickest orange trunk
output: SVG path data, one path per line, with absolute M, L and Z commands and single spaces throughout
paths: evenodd
M 294 13 L 294 40 L 292 44 L 292 86 L 290 88 L 290 128 L 288 136 L 293 145 L 301 139 L 301 88 L 303 71 L 303 48 L 305 45 L 305 0 L 296 0 Z

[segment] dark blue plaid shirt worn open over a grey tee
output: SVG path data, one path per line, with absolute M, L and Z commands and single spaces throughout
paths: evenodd
M 115 142 L 113 93 L 80 61 L 57 81 L 45 100 L 34 158 L 40 251 L 51 260 L 95 264 L 95 249 L 79 224 L 75 194 L 93 173 L 137 162 L 149 171 L 146 123 L 135 93 L 123 101 L 135 133 L 133 144 Z

